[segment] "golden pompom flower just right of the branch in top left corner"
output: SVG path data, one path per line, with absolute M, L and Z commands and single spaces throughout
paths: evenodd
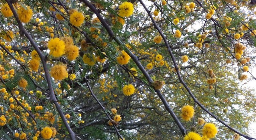
M 32 18 L 33 11 L 30 9 L 30 6 L 26 6 L 26 8 L 20 6 L 20 9 L 17 11 L 17 14 L 21 22 L 28 23 Z

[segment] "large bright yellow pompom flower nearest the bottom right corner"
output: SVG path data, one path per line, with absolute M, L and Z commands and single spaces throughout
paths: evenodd
M 213 123 L 207 123 L 202 129 L 203 136 L 213 138 L 217 134 L 217 128 Z

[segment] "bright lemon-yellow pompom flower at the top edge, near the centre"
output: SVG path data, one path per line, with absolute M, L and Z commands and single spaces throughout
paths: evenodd
M 133 14 L 133 4 L 131 2 L 124 2 L 118 8 L 118 15 L 121 17 L 128 17 Z

